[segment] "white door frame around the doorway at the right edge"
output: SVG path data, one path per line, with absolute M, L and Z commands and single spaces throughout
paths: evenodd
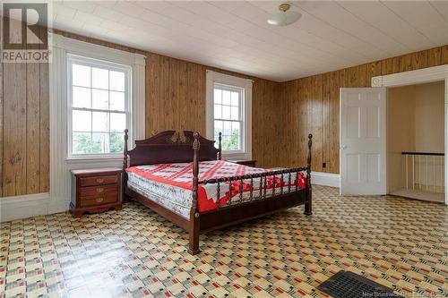
M 444 180 L 445 205 L 448 205 L 448 65 L 376 76 L 372 78 L 372 87 L 390 88 L 433 81 L 444 81 Z

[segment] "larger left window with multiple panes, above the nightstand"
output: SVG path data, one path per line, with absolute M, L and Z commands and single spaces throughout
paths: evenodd
M 131 67 L 78 55 L 67 61 L 69 158 L 121 155 L 130 127 Z

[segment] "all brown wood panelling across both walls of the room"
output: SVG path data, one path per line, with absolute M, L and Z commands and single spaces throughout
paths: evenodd
M 303 166 L 314 134 L 314 171 L 339 172 L 339 89 L 375 75 L 448 64 L 448 46 L 278 83 L 151 54 L 99 39 L 70 38 L 147 55 L 146 135 L 205 132 L 205 72 L 254 80 L 253 157 L 259 166 Z M 49 191 L 47 64 L 0 64 L 0 197 Z M 326 167 L 323 168 L 323 162 Z

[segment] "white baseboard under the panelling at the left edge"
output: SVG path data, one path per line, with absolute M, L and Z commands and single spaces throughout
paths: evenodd
M 50 214 L 48 192 L 0 198 L 0 222 Z

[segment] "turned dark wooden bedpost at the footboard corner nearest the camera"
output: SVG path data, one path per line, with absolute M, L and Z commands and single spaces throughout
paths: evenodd
M 198 205 L 198 174 L 199 174 L 199 132 L 193 133 L 193 202 L 190 210 L 190 246 L 188 252 L 190 254 L 199 253 L 199 205 Z

